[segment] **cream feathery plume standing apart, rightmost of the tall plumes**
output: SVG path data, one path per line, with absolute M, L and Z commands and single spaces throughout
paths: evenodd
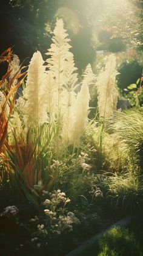
M 101 119 L 107 119 L 116 110 L 118 90 L 116 88 L 116 57 L 109 55 L 105 69 L 102 69 L 97 78 L 98 109 Z

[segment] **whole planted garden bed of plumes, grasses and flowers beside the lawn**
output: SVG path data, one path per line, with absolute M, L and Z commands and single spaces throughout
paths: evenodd
M 127 87 L 136 108 L 118 112 L 116 55 L 98 74 L 88 64 L 79 76 L 62 19 L 52 35 L 47 59 L 34 52 L 27 71 L 11 48 L 0 55 L 8 65 L 0 81 L 2 256 L 64 256 L 143 208 L 142 79 Z M 115 245 L 133 241 L 111 229 L 94 254 L 114 255 L 114 237 Z

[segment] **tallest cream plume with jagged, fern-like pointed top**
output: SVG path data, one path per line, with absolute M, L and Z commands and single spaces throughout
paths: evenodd
M 64 29 L 64 23 L 62 20 L 56 21 L 56 27 L 53 31 L 53 43 L 48 50 L 47 55 L 50 58 L 46 60 L 48 63 L 48 73 L 51 73 L 55 81 L 55 92 L 58 98 L 58 119 L 61 116 L 66 116 L 65 112 L 68 112 L 67 107 L 70 104 L 65 101 L 65 93 L 72 94 L 76 88 L 78 81 L 78 74 L 75 72 L 75 63 L 73 60 L 73 54 L 69 51 L 71 46 L 68 44 L 70 39 L 67 38 L 68 34 Z M 71 96 L 68 95 L 68 99 Z M 67 104 L 66 104 L 67 102 Z

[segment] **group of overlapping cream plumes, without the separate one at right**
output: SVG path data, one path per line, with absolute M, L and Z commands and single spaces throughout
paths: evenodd
M 77 93 L 77 68 L 62 20 L 56 22 L 52 41 L 45 64 L 40 52 L 33 54 L 26 87 L 16 103 L 16 109 L 22 116 L 24 126 L 47 124 L 51 130 L 56 124 L 61 144 L 78 145 L 88 123 L 88 86 L 95 81 L 95 75 L 88 65 L 81 90 Z

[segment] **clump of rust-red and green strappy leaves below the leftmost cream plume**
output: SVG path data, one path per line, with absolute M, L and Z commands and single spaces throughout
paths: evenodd
M 43 128 L 44 129 L 44 128 Z M 33 131 L 36 134 L 36 131 Z M 42 136 L 42 128 L 38 130 L 39 138 Z M 13 137 L 15 144 L 7 148 L 9 163 L 9 176 L 12 185 L 19 193 L 28 198 L 34 204 L 38 204 L 38 198 L 42 195 L 43 189 L 49 189 L 53 183 L 53 176 L 47 171 L 46 166 L 49 165 L 47 157 L 48 141 L 44 138 L 33 140 L 30 130 L 27 132 L 26 138 Z

